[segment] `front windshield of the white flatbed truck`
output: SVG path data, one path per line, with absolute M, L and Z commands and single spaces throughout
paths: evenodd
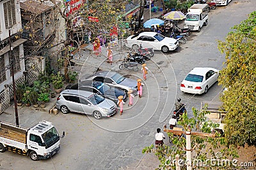
M 46 148 L 51 147 L 60 140 L 58 131 L 55 129 L 55 127 L 52 127 L 49 131 L 42 134 L 42 138 L 44 139 Z

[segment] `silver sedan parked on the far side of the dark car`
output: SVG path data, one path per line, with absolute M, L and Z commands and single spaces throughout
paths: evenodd
M 132 94 L 137 94 L 137 81 L 126 78 L 119 73 L 113 71 L 98 71 L 86 78 L 86 80 L 101 81 L 109 86 L 117 87 L 125 90 L 127 93 L 132 90 Z

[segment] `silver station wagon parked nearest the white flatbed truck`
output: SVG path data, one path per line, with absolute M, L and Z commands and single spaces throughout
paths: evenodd
M 93 115 L 100 119 L 115 115 L 116 104 L 104 97 L 84 90 L 63 90 L 57 98 L 56 108 L 62 113 L 69 111 Z

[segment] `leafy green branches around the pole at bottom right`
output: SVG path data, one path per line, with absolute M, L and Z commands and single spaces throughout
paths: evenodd
M 192 118 L 188 118 L 188 115 L 184 114 L 182 115 L 182 119 L 178 122 L 179 125 L 182 125 L 185 131 L 188 129 L 188 125 L 190 125 L 193 131 L 201 129 L 202 132 L 205 133 L 210 133 L 212 132 L 212 129 L 218 127 L 218 124 L 212 123 L 211 120 L 207 120 L 205 117 L 209 112 L 198 111 L 195 108 L 192 108 L 192 111 Z M 175 169 L 173 160 L 175 160 L 175 156 L 177 154 L 180 155 L 180 160 L 186 160 L 186 139 L 184 138 L 184 134 L 179 137 L 172 133 L 168 133 L 168 136 L 170 136 L 170 139 L 172 140 L 172 147 L 163 145 L 158 146 L 156 150 L 154 150 L 154 145 L 151 145 L 147 146 L 142 151 L 143 153 L 155 153 L 156 157 L 160 161 L 159 169 Z M 231 161 L 233 158 L 238 157 L 237 150 L 233 146 L 229 146 L 227 148 L 225 138 L 221 137 L 220 134 L 217 133 L 216 136 L 219 138 L 191 135 L 191 148 L 193 148 L 192 169 L 232 169 L 232 166 L 234 165 L 230 164 L 229 167 L 227 164 L 218 164 L 216 160 L 229 159 Z M 213 162 L 209 161 L 209 159 L 213 160 Z M 186 169 L 186 166 L 183 165 L 181 169 Z

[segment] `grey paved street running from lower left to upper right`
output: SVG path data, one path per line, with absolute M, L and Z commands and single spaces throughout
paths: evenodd
M 191 107 L 199 109 L 201 101 L 218 101 L 221 94 L 222 88 L 217 84 L 202 96 L 184 94 L 179 90 L 180 81 L 193 67 L 221 69 L 225 55 L 218 51 L 218 40 L 224 40 L 230 27 L 245 20 L 255 8 L 254 0 L 233 0 L 228 6 L 218 6 L 209 13 L 208 25 L 201 32 L 192 32 L 187 43 L 180 45 L 177 52 L 156 51 L 152 60 L 147 61 L 150 71 L 147 81 L 143 82 L 143 97 L 138 99 L 136 96 L 132 107 L 126 103 L 122 116 L 116 114 L 95 120 L 92 116 L 76 113 L 51 115 L 47 111 L 19 108 L 20 125 L 23 127 L 35 125 L 43 119 L 49 120 L 60 133 L 65 131 L 66 136 L 61 139 L 60 152 L 52 159 L 35 162 L 29 157 L 5 152 L 0 154 L 0 169 L 155 169 L 159 162 L 154 153 L 144 155 L 141 150 L 154 143 L 157 127 L 163 129 L 163 125 L 168 124 L 175 99 L 180 97 L 182 103 L 187 104 L 191 116 Z M 126 55 L 120 54 L 117 50 L 120 48 L 115 48 L 113 60 Z M 141 71 L 120 71 L 118 63 L 108 64 L 104 48 L 101 57 L 83 52 L 83 56 L 76 54 L 74 58 L 83 64 L 77 67 L 82 80 L 97 67 L 117 71 L 135 80 L 142 78 Z M 13 108 L 1 114 L 0 120 L 15 123 Z M 167 140 L 164 143 L 170 145 Z

